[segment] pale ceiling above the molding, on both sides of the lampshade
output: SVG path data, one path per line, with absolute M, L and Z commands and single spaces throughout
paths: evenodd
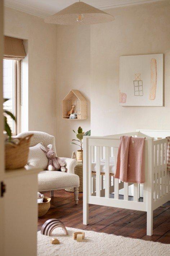
M 46 18 L 78 0 L 4 0 L 4 5 L 22 12 Z M 109 9 L 127 5 L 152 3 L 161 0 L 83 0 L 99 9 Z M 162 0 L 164 1 L 164 0 Z

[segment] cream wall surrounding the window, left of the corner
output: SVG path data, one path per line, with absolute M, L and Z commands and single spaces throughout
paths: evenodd
M 4 15 L 4 34 L 28 39 L 28 129 L 55 136 L 56 26 L 11 8 Z

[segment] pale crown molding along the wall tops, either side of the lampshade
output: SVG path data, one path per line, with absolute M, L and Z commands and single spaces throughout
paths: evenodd
M 106 10 L 111 8 L 129 6 L 129 5 L 153 3 L 158 1 L 165 1 L 165 0 L 109 0 L 109 1 L 104 1 L 103 4 L 94 5 L 94 7 L 99 8 L 101 10 Z M 22 3 L 17 0 L 4 0 L 4 6 L 15 9 L 15 10 L 19 10 L 40 18 L 46 18 L 54 14 L 46 10 L 43 10 L 41 8 L 37 8 L 33 5 Z

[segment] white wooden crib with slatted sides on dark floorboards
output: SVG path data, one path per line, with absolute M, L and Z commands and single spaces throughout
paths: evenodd
M 143 201 L 140 184 L 133 184 L 133 201 L 129 186 L 114 178 L 120 136 L 145 137 L 145 180 Z M 170 131 L 140 130 L 132 133 L 94 137 L 84 136 L 83 155 L 83 224 L 89 222 L 89 204 L 147 212 L 147 235 L 153 232 L 153 210 L 170 200 L 170 173 L 167 171 L 167 138 Z M 124 196 L 119 192 L 124 189 Z M 111 194 L 112 193 L 112 194 Z M 114 198 L 113 198 L 114 197 Z

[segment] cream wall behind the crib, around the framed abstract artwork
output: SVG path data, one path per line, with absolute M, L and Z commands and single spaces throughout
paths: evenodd
M 115 21 L 91 26 L 91 129 L 110 135 L 170 130 L 170 1 L 107 10 Z M 164 107 L 119 107 L 119 56 L 164 54 Z

